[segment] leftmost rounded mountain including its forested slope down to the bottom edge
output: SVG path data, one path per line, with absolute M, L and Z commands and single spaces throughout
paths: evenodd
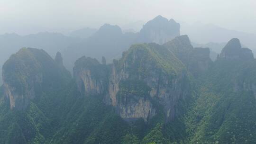
M 59 104 L 66 95 L 60 90 L 71 80 L 69 72 L 45 51 L 22 48 L 4 64 L 3 80 L 0 143 L 44 143 L 64 112 Z

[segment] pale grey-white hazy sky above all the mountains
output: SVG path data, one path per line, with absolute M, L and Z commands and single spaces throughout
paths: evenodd
M 157 15 L 256 33 L 256 0 L 0 0 L 0 34 L 124 26 Z

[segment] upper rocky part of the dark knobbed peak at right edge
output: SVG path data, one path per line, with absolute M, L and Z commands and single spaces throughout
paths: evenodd
M 252 91 L 256 98 L 256 64 L 253 53 L 248 48 L 242 48 L 238 38 L 232 38 L 222 49 L 218 62 L 229 65 L 233 71 L 233 91 Z

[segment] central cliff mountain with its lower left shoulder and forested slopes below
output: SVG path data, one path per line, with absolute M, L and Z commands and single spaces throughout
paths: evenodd
M 52 144 L 169 144 L 164 131 L 175 132 L 174 121 L 181 122 L 192 99 L 185 66 L 157 44 L 132 45 L 109 65 L 83 56 L 73 72 L 82 97 Z

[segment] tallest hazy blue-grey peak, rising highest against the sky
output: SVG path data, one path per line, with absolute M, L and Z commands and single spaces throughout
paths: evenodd
M 176 36 L 180 36 L 180 24 L 176 23 L 174 19 L 168 20 L 157 16 L 143 26 L 138 39 L 146 43 L 164 44 Z

